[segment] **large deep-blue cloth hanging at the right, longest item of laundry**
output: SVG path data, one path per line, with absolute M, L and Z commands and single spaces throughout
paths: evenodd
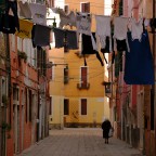
M 142 35 L 141 41 L 132 41 L 128 32 L 130 52 L 126 51 L 125 82 L 127 84 L 154 84 L 154 64 L 150 47 L 148 34 Z

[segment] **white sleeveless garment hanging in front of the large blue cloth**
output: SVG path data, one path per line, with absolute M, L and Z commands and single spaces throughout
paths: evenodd
M 143 20 L 136 21 L 135 18 L 131 18 L 131 36 L 132 40 L 139 39 L 141 41 L 143 34 Z

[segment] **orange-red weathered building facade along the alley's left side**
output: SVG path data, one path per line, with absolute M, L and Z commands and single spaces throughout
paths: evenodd
M 0 32 L 0 156 L 22 153 L 49 134 L 47 50 Z

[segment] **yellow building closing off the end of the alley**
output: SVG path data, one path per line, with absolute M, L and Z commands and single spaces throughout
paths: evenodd
M 66 0 L 64 8 L 93 14 L 92 31 L 95 31 L 94 15 L 104 15 L 104 1 Z M 110 10 L 109 8 L 107 8 Z M 99 52 L 101 57 L 103 55 Z M 106 55 L 108 58 L 108 56 Z M 64 53 L 64 49 L 52 49 L 50 52 L 53 79 L 50 82 L 52 98 L 50 128 L 98 127 L 104 117 L 109 118 L 109 102 L 105 96 L 103 81 L 107 81 L 106 64 L 101 65 L 96 55 L 87 55 L 84 66 L 81 49 Z

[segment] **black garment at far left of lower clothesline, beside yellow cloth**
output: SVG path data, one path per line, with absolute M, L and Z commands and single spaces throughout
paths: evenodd
M 14 16 L 2 14 L 0 17 L 0 31 L 4 34 L 15 34 L 15 21 Z

